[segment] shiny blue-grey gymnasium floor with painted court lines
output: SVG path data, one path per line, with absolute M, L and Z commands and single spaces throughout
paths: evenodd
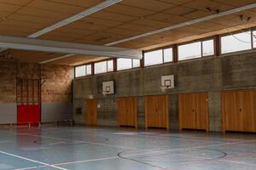
M 256 169 L 256 135 L 110 127 L 0 129 L 0 170 Z

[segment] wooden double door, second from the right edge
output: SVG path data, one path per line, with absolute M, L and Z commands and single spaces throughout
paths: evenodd
M 208 130 L 207 93 L 179 94 L 179 128 Z

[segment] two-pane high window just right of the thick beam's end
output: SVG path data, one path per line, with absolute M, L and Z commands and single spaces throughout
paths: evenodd
M 159 49 L 144 53 L 144 65 L 159 65 L 167 62 L 172 62 L 172 48 Z

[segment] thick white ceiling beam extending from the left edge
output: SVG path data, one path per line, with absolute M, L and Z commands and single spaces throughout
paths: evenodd
M 142 59 L 142 50 L 114 48 L 73 42 L 56 42 L 27 37 L 0 36 L 0 48 L 13 48 L 60 54 L 85 54 L 98 57 Z

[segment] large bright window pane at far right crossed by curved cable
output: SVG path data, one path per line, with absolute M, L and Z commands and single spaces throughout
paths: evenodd
M 242 51 L 252 48 L 251 31 L 221 37 L 221 54 Z

